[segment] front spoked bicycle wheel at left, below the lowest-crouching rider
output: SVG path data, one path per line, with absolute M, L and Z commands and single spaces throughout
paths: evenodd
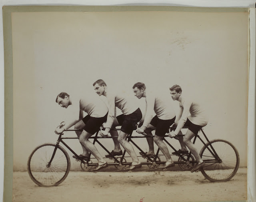
M 42 144 L 28 158 L 28 174 L 39 186 L 57 186 L 65 180 L 69 171 L 68 153 L 60 145 Z

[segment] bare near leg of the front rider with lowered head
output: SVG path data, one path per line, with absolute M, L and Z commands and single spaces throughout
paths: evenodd
M 98 160 L 98 164 L 102 165 L 105 164 L 106 161 L 102 158 L 102 156 L 100 155 L 100 153 L 98 152 L 97 148 L 94 146 L 94 144 L 92 144 L 92 142 L 90 142 L 88 140 L 88 138 L 92 136 L 92 134 L 86 132 L 85 130 L 82 131 L 80 137 L 79 137 L 79 141 L 80 143 L 88 150 L 91 152 L 91 154 L 93 156 L 95 156 L 95 158 Z

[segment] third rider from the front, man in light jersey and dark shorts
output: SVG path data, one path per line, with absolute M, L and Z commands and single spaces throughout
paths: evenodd
M 136 132 L 143 133 L 146 128 L 156 127 L 154 142 L 157 144 L 166 158 L 165 165 L 158 168 L 169 168 L 174 166 L 174 162 L 172 161 L 168 148 L 163 142 L 165 134 L 175 121 L 175 112 L 171 104 L 168 102 L 168 100 L 164 100 L 158 95 L 146 92 L 146 86 L 144 83 L 138 82 L 134 84 L 132 88 L 137 98 L 146 98 L 146 115 L 144 123 L 136 130 Z M 156 113 L 156 116 L 153 118 L 154 112 Z

